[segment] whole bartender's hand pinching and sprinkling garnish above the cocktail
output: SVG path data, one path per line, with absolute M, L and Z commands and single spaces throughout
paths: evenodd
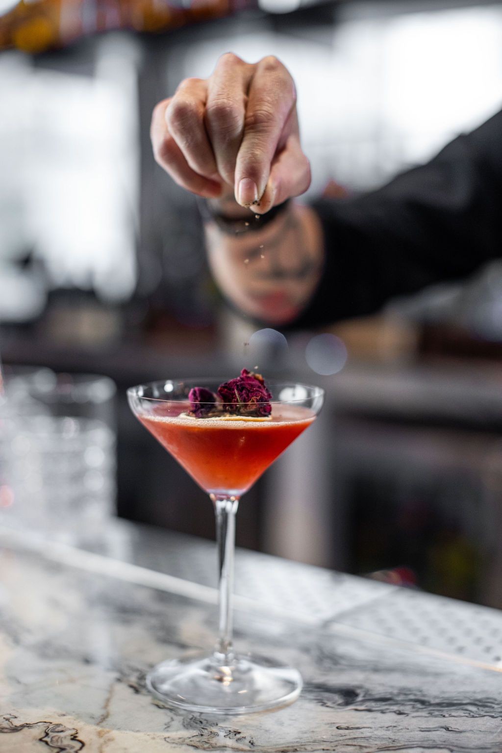
M 300 145 L 294 81 L 273 56 L 250 64 L 233 53 L 207 79 L 187 78 L 154 109 L 154 155 L 187 191 L 263 214 L 310 185 Z

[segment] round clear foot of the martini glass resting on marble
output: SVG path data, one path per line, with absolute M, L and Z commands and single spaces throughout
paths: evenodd
M 148 690 L 167 706 L 228 715 L 292 703 L 302 685 L 297 669 L 224 654 L 165 661 L 147 676 Z

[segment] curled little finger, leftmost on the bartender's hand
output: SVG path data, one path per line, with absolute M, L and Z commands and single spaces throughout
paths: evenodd
M 152 115 L 150 133 L 155 160 L 178 185 L 186 188 L 187 191 L 206 198 L 218 197 L 221 194 L 221 184 L 199 175 L 190 167 L 169 131 L 166 111 L 171 102 L 172 99 L 164 99 L 154 108 Z

